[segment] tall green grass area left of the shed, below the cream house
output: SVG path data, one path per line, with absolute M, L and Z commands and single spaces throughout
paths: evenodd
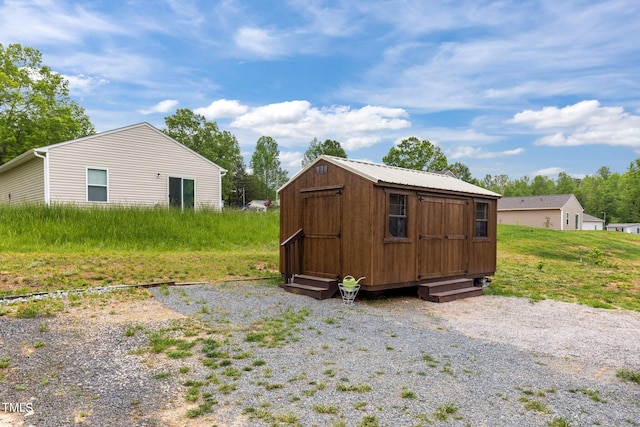
M 277 212 L 0 206 L 0 295 L 278 275 Z

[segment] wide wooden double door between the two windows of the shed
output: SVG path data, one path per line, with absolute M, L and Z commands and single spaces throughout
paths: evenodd
M 433 196 L 418 200 L 418 280 L 466 274 L 468 201 Z

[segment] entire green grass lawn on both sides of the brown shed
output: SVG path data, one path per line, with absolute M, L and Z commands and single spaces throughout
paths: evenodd
M 0 206 L 0 295 L 278 277 L 278 212 Z M 498 226 L 487 294 L 640 311 L 640 236 Z

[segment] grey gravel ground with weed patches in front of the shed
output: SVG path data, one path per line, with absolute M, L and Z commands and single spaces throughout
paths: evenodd
M 0 406 L 0 425 L 640 426 L 640 385 L 616 378 L 640 370 L 640 313 L 491 296 L 346 307 L 262 284 L 152 293 L 0 317 L 0 400 L 33 408 Z M 158 330 L 225 354 L 153 353 Z

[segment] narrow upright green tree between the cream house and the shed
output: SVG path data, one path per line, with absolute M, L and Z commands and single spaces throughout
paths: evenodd
M 280 165 L 278 143 L 270 136 L 261 136 L 251 156 L 253 175 L 263 186 L 262 197 L 275 199 L 276 190 L 287 182 L 287 171 Z

